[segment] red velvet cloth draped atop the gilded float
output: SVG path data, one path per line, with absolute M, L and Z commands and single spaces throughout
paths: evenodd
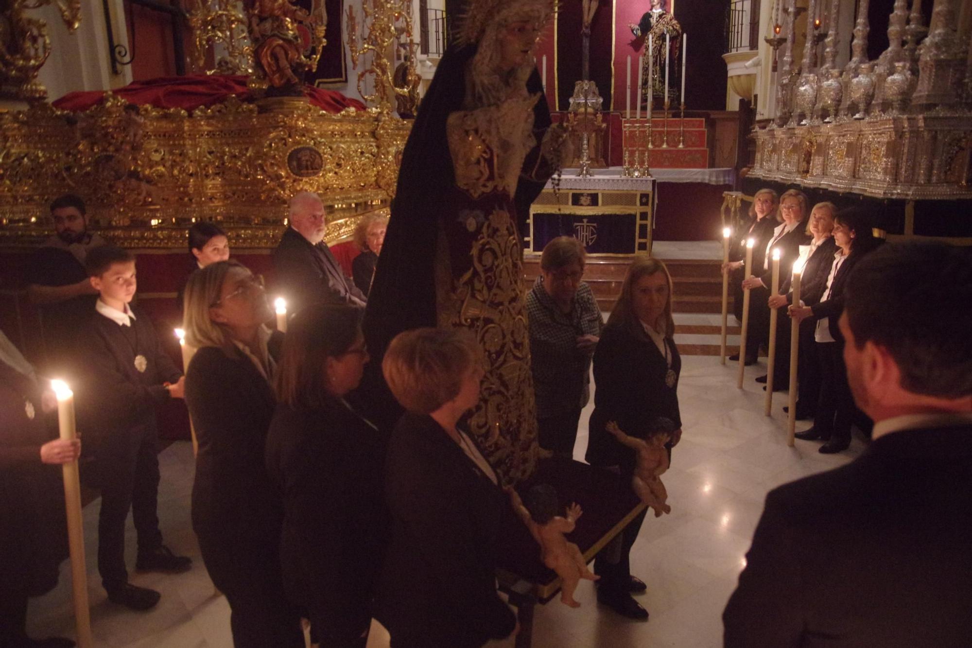
M 244 76 L 204 74 L 136 81 L 112 91 L 129 103 L 149 104 L 156 108 L 182 108 L 188 111 L 200 106 L 220 103 L 230 94 L 237 96 L 241 101 L 252 101 L 254 98 L 246 87 Z M 329 113 L 339 113 L 345 108 L 365 109 L 361 101 L 346 97 L 335 90 L 305 86 L 304 91 L 313 105 Z M 61 110 L 81 112 L 97 104 L 104 95 L 104 90 L 68 92 L 54 101 L 53 105 Z

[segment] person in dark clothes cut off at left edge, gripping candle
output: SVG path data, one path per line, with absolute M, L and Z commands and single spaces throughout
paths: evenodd
M 0 646 L 73 646 L 68 639 L 30 639 L 27 597 L 57 584 L 67 557 L 64 489 L 57 466 L 76 461 L 81 441 L 52 438 L 56 408 L 33 368 L 0 332 Z

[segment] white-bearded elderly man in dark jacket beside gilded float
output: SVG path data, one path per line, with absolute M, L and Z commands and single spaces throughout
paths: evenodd
M 367 298 L 337 264 L 324 242 L 328 232 L 324 203 L 300 192 L 288 207 L 290 227 L 273 251 L 277 285 L 294 313 L 318 302 L 364 306 Z

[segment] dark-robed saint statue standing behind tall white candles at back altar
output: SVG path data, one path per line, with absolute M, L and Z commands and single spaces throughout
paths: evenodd
M 638 24 L 628 25 L 636 38 L 642 39 L 642 47 L 648 46 L 648 35 L 651 35 L 651 52 L 644 52 L 642 58 L 642 88 L 640 100 L 647 105 L 649 97 L 663 98 L 665 96 L 665 35 L 670 37 L 669 55 L 669 97 L 677 102 L 680 83 L 681 66 L 681 25 L 671 13 L 666 11 L 667 0 L 651 0 L 651 9 L 644 13 Z M 651 79 L 648 79 L 648 57 L 651 58 Z M 650 90 L 648 90 L 650 88 Z M 676 104 L 677 105 L 677 104 Z

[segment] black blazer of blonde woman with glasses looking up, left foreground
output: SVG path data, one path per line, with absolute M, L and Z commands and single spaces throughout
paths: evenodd
M 270 339 L 271 357 L 278 356 L 282 341 L 279 333 Z M 189 366 L 186 404 L 199 442 L 192 485 L 196 534 L 279 543 L 283 510 L 263 460 L 276 406 L 266 378 L 235 347 L 226 354 L 205 346 Z

